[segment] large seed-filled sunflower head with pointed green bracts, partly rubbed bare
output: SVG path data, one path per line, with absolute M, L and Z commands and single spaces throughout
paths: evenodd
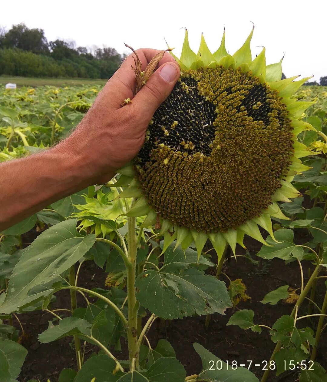
M 230 55 L 225 31 L 211 53 L 203 35 L 198 53 L 188 44 L 180 79 L 159 106 L 132 167 L 120 172 L 121 197 L 135 196 L 129 216 L 148 214 L 164 250 L 173 241 L 198 254 L 209 238 L 218 258 L 227 244 L 235 253 L 245 234 L 267 244 L 258 225 L 272 232 L 271 217 L 287 219 L 278 201 L 299 196 L 293 176 L 306 170 L 300 157 L 313 152 L 296 136 L 311 125 L 300 121 L 312 102 L 292 94 L 308 78 L 282 77 L 282 59 L 266 65 L 265 49 L 252 60 L 250 42 Z

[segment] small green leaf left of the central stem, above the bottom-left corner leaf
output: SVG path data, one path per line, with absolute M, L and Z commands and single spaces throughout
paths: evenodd
M 55 325 L 53 322 L 49 321 L 48 329 L 39 335 L 39 341 L 41 343 L 48 343 L 69 335 L 90 335 L 90 328 L 91 324 L 87 322 L 87 320 L 77 317 L 65 317 L 62 320 L 59 320 L 58 325 Z

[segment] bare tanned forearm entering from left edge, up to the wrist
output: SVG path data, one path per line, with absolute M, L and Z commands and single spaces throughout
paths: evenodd
M 92 164 L 84 159 L 63 141 L 38 154 L 0 163 L 0 231 L 96 183 Z

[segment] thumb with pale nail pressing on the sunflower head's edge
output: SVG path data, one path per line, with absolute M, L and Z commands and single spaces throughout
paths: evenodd
M 171 93 L 179 76 L 180 70 L 176 63 L 166 62 L 161 65 L 133 98 L 136 115 L 142 116 L 148 123 Z

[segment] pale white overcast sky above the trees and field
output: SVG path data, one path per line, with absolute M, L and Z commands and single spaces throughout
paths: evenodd
M 77 46 L 98 45 L 127 52 L 134 49 L 166 49 L 165 39 L 179 56 L 184 29 L 190 45 L 198 50 L 201 32 L 209 49 L 219 47 L 226 26 L 226 49 L 233 54 L 255 23 L 253 57 L 266 47 L 267 64 L 280 60 L 287 77 L 301 74 L 319 82 L 327 75 L 326 1 L 293 0 L 161 0 L 136 1 L 3 1 L 0 25 L 25 23 L 41 28 L 47 39 L 75 40 Z

